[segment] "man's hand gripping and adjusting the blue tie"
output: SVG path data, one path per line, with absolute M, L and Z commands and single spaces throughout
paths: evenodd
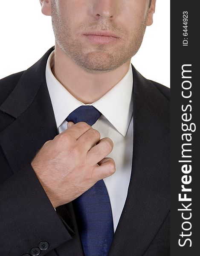
M 47 141 L 32 160 L 38 179 L 53 207 L 67 204 L 90 189 L 98 180 L 115 172 L 109 138 L 85 122 L 68 123 L 68 128 Z

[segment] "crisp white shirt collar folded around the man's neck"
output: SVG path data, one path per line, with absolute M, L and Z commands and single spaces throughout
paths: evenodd
M 53 75 L 51 71 L 53 55 L 54 51 L 49 55 L 46 64 L 46 84 L 58 128 L 72 111 L 85 104 L 72 96 Z M 133 73 L 130 64 L 128 72 L 118 84 L 96 102 L 87 104 L 97 108 L 124 137 L 133 113 L 132 89 Z

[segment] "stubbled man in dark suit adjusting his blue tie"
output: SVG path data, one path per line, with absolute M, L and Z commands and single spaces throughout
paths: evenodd
M 169 90 L 130 59 L 155 0 L 40 0 L 55 48 L 0 81 L 0 255 L 168 256 Z

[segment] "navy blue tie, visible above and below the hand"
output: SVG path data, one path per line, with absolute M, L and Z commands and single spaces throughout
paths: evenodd
M 93 125 L 101 116 L 93 106 L 81 106 L 67 122 Z M 110 198 L 103 180 L 74 200 L 75 215 L 85 256 L 107 256 L 113 240 L 113 216 Z

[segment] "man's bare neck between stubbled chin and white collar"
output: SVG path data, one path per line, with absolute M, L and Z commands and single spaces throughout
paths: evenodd
M 76 99 L 90 104 L 112 89 L 128 72 L 129 66 L 130 61 L 107 73 L 89 73 L 55 44 L 52 73 Z

